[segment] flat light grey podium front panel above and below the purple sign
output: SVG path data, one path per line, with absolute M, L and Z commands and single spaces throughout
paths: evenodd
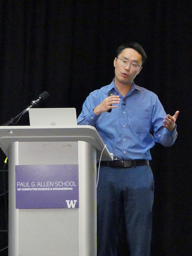
M 78 142 L 19 142 L 18 159 L 19 165 L 78 164 Z M 78 208 L 16 212 L 18 225 L 13 233 L 18 236 L 9 246 L 18 252 L 9 256 L 78 256 Z

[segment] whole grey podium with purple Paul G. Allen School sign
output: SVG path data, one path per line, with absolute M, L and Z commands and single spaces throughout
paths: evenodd
M 9 256 L 96 256 L 96 160 L 92 126 L 2 126 L 9 158 Z M 111 161 L 107 148 L 103 161 Z

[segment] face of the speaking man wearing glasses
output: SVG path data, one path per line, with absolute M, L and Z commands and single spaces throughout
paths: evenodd
M 142 57 L 139 52 L 135 51 L 132 48 L 125 48 L 118 56 L 128 60 L 129 62 L 136 63 L 139 66 L 142 65 Z M 126 67 L 120 64 L 120 59 L 115 58 L 114 60 L 115 67 L 115 81 L 120 82 L 121 84 L 131 85 L 133 79 L 140 73 L 142 67 L 139 67 L 137 70 L 133 70 L 130 67 L 130 63 Z

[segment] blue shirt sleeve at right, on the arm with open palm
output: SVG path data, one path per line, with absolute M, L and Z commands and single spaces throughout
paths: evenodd
M 171 132 L 163 126 L 164 117 L 167 115 L 157 96 L 152 100 L 152 109 L 152 125 L 155 141 L 161 143 L 165 147 L 172 146 L 177 139 L 176 126 L 175 129 Z

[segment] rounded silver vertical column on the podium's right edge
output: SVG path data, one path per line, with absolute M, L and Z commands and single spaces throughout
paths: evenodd
M 84 141 L 79 148 L 79 256 L 97 255 L 96 149 Z

